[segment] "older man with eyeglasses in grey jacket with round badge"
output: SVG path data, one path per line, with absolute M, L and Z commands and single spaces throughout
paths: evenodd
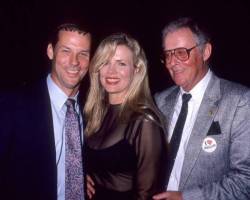
M 176 86 L 156 95 L 169 134 L 170 177 L 167 192 L 154 199 L 250 199 L 249 89 L 209 69 L 212 45 L 190 18 L 164 28 L 163 48 Z

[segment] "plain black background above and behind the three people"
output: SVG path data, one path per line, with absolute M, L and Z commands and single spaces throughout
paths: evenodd
M 243 0 L 211 1 L 21 1 L 0 7 L 0 90 L 35 81 L 49 69 L 49 31 L 68 18 L 87 20 L 95 44 L 110 33 L 125 31 L 139 40 L 149 60 L 152 92 L 172 83 L 160 63 L 161 30 L 171 19 L 191 16 L 209 30 L 211 68 L 220 77 L 250 86 L 250 6 Z

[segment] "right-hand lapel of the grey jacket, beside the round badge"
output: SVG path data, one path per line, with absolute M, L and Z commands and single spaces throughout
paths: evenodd
M 179 190 L 182 190 L 188 177 L 194 168 L 195 162 L 201 151 L 202 141 L 214 120 L 218 110 L 220 99 L 220 81 L 219 78 L 212 75 L 209 85 L 201 102 L 196 121 L 187 145 L 184 163 L 181 172 Z

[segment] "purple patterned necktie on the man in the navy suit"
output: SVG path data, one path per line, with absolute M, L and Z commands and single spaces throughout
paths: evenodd
M 80 124 L 75 100 L 66 101 L 65 117 L 65 200 L 84 199 Z

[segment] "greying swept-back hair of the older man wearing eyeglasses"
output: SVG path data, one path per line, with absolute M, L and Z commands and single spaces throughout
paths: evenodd
M 205 30 L 205 28 L 201 27 L 201 25 L 198 25 L 198 23 L 190 17 L 178 18 L 177 20 L 171 21 L 169 24 L 167 24 L 162 31 L 162 41 L 164 41 L 168 33 L 174 32 L 181 28 L 189 28 L 196 37 L 198 44 L 205 44 L 211 41 L 210 35 Z

